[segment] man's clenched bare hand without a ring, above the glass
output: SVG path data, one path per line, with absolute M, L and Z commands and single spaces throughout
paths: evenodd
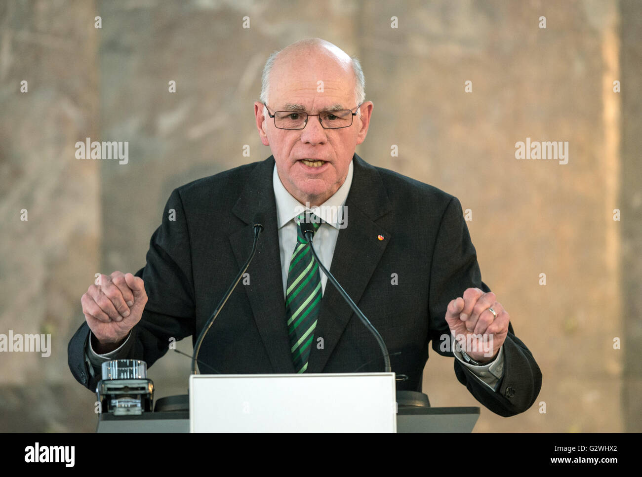
M 114 351 L 139 322 L 147 303 L 142 278 L 132 273 L 100 275 L 80 299 L 82 312 L 98 343 L 98 354 Z

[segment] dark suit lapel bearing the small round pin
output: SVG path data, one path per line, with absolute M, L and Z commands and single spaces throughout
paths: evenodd
M 348 214 L 347 227 L 339 230 L 330 272 L 352 300 L 359 304 L 370 277 L 392 237 L 390 231 L 384 228 L 391 223 L 390 214 L 382 220 L 376 220 L 388 214 L 392 206 L 377 170 L 356 154 L 352 185 L 345 204 Z M 383 240 L 379 240 L 380 234 L 383 235 Z M 358 265 L 358 270 L 355 270 L 354 264 Z M 321 302 L 307 372 L 323 371 L 352 314 L 350 306 L 328 281 Z M 317 348 L 319 337 L 323 338 L 323 349 Z

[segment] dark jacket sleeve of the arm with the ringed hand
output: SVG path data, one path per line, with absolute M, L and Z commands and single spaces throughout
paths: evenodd
M 444 347 L 444 335 L 451 332 L 446 323 L 449 302 L 462 296 L 467 288 L 477 287 L 487 292 L 477 263 L 477 254 L 468 232 L 462 206 L 451 198 L 442 216 L 433 251 L 429 313 L 433 350 L 443 356 L 453 356 Z M 526 345 L 519 340 L 508 324 L 504 342 L 504 372 L 496 391 L 490 390 L 462 363 L 455 360 L 455 375 L 475 399 L 501 416 L 524 412 L 535 402 L 542 385 L 542 374 Z

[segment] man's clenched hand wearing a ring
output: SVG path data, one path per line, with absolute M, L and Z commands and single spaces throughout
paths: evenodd
M 492 291 L 484 293 L 479 288 L 468 288 L 463 297 L 452 300 L 446 309 L 446 322 L 456 340 L 462 344 L 476 343 L 476 351 L 467 347 L 464 347 L 464 351 L 482 364 L 497 356 L 508 334 L 509 321 L 507 311 L 496 301 L 495 294 Z

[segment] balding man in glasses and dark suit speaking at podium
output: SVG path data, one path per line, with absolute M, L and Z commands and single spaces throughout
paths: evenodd
M 481 280 L 458 200 L 354 153 L 373 110 L 364 83 L 358 61 L 324 40 L 268 58 L 254 112 L 272 156 L 176 189 L 147 265 L 89 287 L 86 322 L 69 343 L 78 381 L 94 388 L 102 361 L 151 366 L 172 338 L 195 341 L 250 253 L 257 214 L 265 230 L 256 257 L 207 334 L 202 370 L 383 370 L 374 339 L 300 236 L 300 212 L 312 209 L 315 250 L 383 336 L 397 389 L 421 390 L 432 340 L 493 412 L 534 403 L 541 372 Z M 451 350 L 450 336 L 467 343 L 462 352 Z M 480 336 L 488 346 L 471 347 Z

